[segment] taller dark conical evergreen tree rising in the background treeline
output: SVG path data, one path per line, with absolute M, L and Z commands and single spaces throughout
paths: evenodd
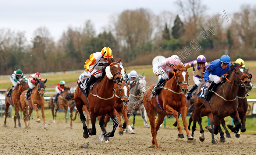
M 174 26 L 172 27 L 172 36 L 175 39 L 179 39 L 182 34 L 185 32 L 183 22 L 181 22 L 180 17 L 177 15 L 174 20 Z

